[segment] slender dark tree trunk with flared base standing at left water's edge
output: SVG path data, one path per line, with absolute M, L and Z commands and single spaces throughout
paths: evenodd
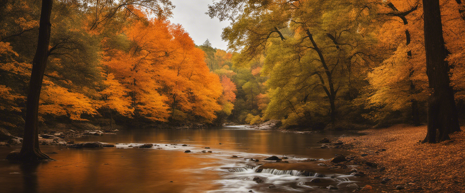
M 52 12 L 53 0 L 42 0 L 40 12 L 39 40 L 37 50 L 32 62 L 31 81 L 29 82 L 29 93 L 26 103 L 26 125 L 24 127 L 24 140 L 18 159 L 21 161 L 37 161 L 50 159 L 39 149 L 39 97 L 44 78 L 47 62 L 48 44 L 50 39 L 50 14 Z

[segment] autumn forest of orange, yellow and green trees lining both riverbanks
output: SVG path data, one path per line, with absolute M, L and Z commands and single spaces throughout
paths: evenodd
M 460 141 L 461 0 L 209 1 L 199 14 L 230 22 L 221 34 L 226 50 L 209 39 L 194 43 L 190 31 L 170 21 L 176 6 L 170 0 L 1 0 L 0 130 L 24 138 L 23 159 L 50 158 L 39 150 L 42 134 L 140 128 L 272 123 L 279 131 L 379 129 L 366 132 L 394 136 L 390 128 L 406 125 L 422 130 L 420 139 L 405 143 Z M 36 157 L 25 158 L 27 151 Z

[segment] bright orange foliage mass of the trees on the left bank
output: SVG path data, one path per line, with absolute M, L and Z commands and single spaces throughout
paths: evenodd
M 195 48 L 180 25 L 164 20 L 137 22 L 124 34 L 126 39 L 119 41 L 129 42 L 128 48 L 108 47 L 103 64 L 110 73 L 108 89 L 120 87 L 127 93 L 124 96 L 131 100 L 134 113 L 155 121 L 166 121 L 170 116 L 173 120 L 189 117 L 186 114 L 207 122 L 216 118 L 214 112 L 221 110 L 217 102 L 222 93 L 219 77 L 209 72 L 203 51 Z M 106 39 L 102 43 L 111 45 L 115 41 Z M 127 104 L 116 99 L 113 102 L 108 104 L 112 108 Z

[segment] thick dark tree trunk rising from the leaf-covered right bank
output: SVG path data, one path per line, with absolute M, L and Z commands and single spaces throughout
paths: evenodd
M 460 131 L 454 93 L 450 85 L 447 50 L 442 36 L 439 0 L 423 0 L 426 75 L 432 93 L 428 98 L 428 132 L 424 142 L 438 143 Z

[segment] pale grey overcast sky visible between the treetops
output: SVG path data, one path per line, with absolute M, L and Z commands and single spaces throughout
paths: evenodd
M 208 39 L 214 48 L 226 50 L 227 43 L 221 40 L 221 31 L 229 25 L 229 21 L 219 22 L 219 19 L 211 19 L 205 14 L 208 11 L 208 4 L 212 4 L 212 1 L 171 0 L 176 8 L 170 21 L 182 25 L 195 44 L 203 44 Z

